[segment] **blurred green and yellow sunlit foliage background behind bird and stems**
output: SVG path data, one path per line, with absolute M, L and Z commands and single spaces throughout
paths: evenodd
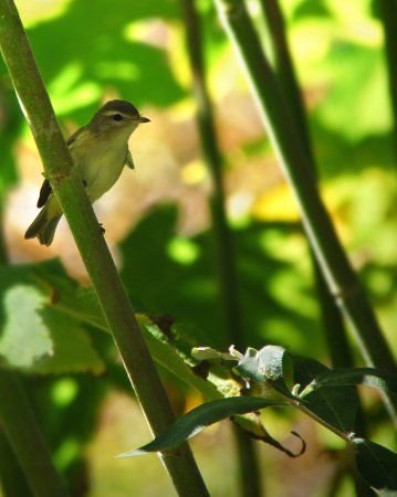
M 197 3 L 224 158 L 247 343 L 257 348 L 280 343 L 295 355 L 330 363 L 295 202 L 213 4 L 210 0 Z M 396 144 L 376 1 L 281 3 L 323 198 L 397 352 Z M 209 211 L 212 187 L 196 128 L 180 3 L 20 0 L 17 4 L 65 135 L 86 124 L 111 98 L 133 102 L 152 120 L 130 141 L 136 170 L 126 170 L 95 205 L 135 308 L 175 316 L 192 345 L 227 349 Z M 254 1 L 250 10 L 263 34 Z M 64 221 L 50 248 L 23 240 L 35 215 L 42 167 L 3 65 L 0 133 L 2 226 L 11 264 L 60 257 L 74 278 L 87 283 Z M 155 456 L 114 459 L 147 442 L 149 432 L 108 337 L 87 327 L 83 331 L 97 355 L 90 366 L 73 358 L 56 376 L 25 379 L 72 495 L 173 496 Z M 166 377 L 166 382 L 179 413 L 200 402 L 171 379 Z M 378 399 L 368 395 L 365 401 L 369 414 L 379 421 L 370 435 L 387 445 L 390 433 L 382 422 Z M 288 434 L 294 429 L 309 447 L 301 458 L 289 459 L 261 446 L 267 495 L 330 495 L 326 489 L 335 479 L 334 451 L 339 443 L 301 417 L 269 416 L 269 426 L 286 444 L 293 444 Z M 227 423 L 194 441 L 199 466 L 216 497 L 239 495 L 232 444 Z M 347 479 L 338 495 L 354 495 Z

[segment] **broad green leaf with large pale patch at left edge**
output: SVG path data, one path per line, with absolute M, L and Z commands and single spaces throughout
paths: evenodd
M 65 319 L 55 306 L 61 294 L 75 296 L 77 288 L 58 261 L 0 266 L 0 353 L 9 364 L 34 373 L 104 370 L 73 313 Z

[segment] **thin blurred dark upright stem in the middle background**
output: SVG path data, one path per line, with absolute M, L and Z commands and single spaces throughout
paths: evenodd
M 216 262 L 219 272 L 226 336 L 229 343 L 233 343 L 241 349 L 244 346 L 244 337 L 238 295 L 236 255 L 224 208 L 222 158 L 213 124 L 212 105 L 206 84 L 200 18 L 196 10 L 195 0 L 182 0 L 182 9 L 192 85 L 198 103 L 197 121 L 201 148 L 213 182 L 211 197 L 212 232 L 216 242 Z M 240 494 L 244 497 L 258 497 L 261 495 L 261 478 L 254 442 L 239 427 L 234 427 L 233 433 L 240 458 Z

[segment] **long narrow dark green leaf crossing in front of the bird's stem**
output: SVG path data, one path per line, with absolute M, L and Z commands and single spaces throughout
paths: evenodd
M 206 426 L 230 417 L 233 414 L 245 414 L 264 408 L 282 408 L 285 405 L 288 404 L 255 396 L 233 396 L 207 402 L 177 420 L 153 442 L 136 451 L 121 454 L 117 457 L 133 457 L 149 452 L 164 452 L 177 447 L 200 433 Z

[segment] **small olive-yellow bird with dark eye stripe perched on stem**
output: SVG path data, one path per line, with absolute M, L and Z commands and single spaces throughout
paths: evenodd
M 134 169 L 128 138 L 140 123 L 149 120 L 140 116 L 133 104 L 112 101 L 86 126 L 69 138 L 67 146 L 74 166 L 80 169 L 92 203 L 113 187 L 124 166 Z M 62 209 L 48 179 L 41 187 L 38 208 L 42 210 L 28 228 L 24 237 L 36 236 L 41 244 L 51 245 L 62 218 Z

